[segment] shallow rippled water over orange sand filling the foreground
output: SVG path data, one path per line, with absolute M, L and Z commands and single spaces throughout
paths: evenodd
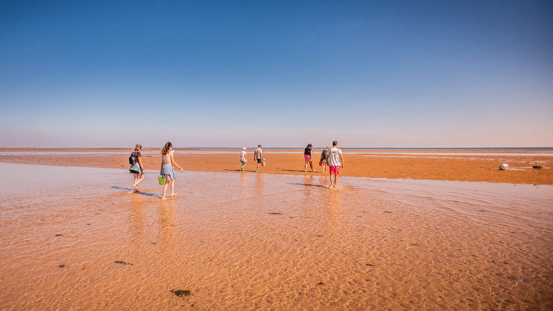
M 0 171 L 2 310 L 553 308 L 553 186 Z

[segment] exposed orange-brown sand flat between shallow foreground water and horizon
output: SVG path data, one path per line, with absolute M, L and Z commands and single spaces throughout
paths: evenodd
M 315 149 L 314 165 L 318 173 L 304 172 L 305 161 L 301 151 L 264 149 L 267 166 L 263 173 L 286 175 L 323 175 L 319 167 L 322 149 Z M 0 162 L 21 164 L 71 165 L 101 168 L 128 168 L 130 149 L 2 149 Z M 430 180 L 460 180 L 472 182 L 495 182 L 512 184 L 553 184 L 553 154 L 525 155 L 513 151 L 467 151 L 467 155 L 442 154 L 373 154 L 367 151 L 345 152 L 346 167 L 343 177 L 405 178 Z M 425 151 L 426 153 L 429 151 Z M 436 151 L 440 152 L 440 151 Z M 397 151 L 393 151 L 397 153 Z M 441 152 L 440 152 L 441 153 Z M 512 155 L 504 155 L 512 153 Z M 470 154 L 470 155 L 469 155 Z M 473 155 L 483 154 L 483 155 Z M 239 172 L 239 151 L 232 150 L 176 150 L 176 162 L 192 172 Z M 248 149 L 247 173 L 254 173 L 253 150 Z M 143 163 L 147 171 L 157 174 L 160 167 L 159 151 L 146 149 Z M 499 170 L 502 163 L 509 164 L 509 171 Z M 542 165 L 544 169 L 533 169 Z

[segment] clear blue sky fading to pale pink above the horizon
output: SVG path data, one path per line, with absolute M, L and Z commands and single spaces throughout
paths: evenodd
M 553 0 L 0 2 L 0 146 L 552 147 Z

